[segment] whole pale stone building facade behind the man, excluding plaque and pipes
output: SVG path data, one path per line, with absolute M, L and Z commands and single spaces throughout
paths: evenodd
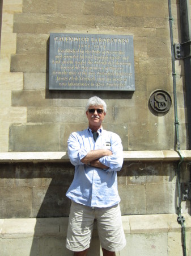
M 171 2 L 178 43 L 179 1 Z M 50 32 L 133 35 L 135 92 L 50 92 Z M 181 183 L 188 183 L 183 61 L 175 66 Z M 148 100 L 156 89 L 171 95 L 167 113 L 151 111 Z M 0 93 L 1 255 L 72 255 L 64 245 L 65 192 L 74 174 L 67 138 L 87 127 L 84 105 L 94 94 L 107 102 L 104 128 L 118 133 L 124 146 L 118 190 L 128 245 L 117 255 L 182 255 L 167 0 L 3 0 Z M 189 255 L 190 201 L 181 208 Z M 102 255 L 96 230 L 93 238 L 90 255 Z

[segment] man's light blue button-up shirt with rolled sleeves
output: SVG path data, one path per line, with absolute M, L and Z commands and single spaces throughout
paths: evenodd
M 90 207 L 111 207 L 120 202 L 117 190 L 117 171 L 124 160 L 120 137 L 111 131 L 98 131 L 96 142 L 91 129 L 74 132 L 68 139 L 70 162 L 75 166 L 74 180 L 66 196 L 76 203 Z M 88 166 L 81 160 L 91 150 L 107 148 L 112 155 L 103 156 L 99 161 L 109 168 Z

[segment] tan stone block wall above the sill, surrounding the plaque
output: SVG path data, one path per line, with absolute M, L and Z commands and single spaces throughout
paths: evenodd
M 160 8 L 158 7 L 160 5 Z M 172 1 L 179 42 L 179 2 Z M 48 90 L 50 32 L 133 35 L 135 92 Z M 182 60 L 176 61 L 181 148 L 186 149 Z M 168 1 L 3 1 L 0 63 L 0 151 L 64 151 L 67 137 L 87 127 L 84 105 L 96 94 L 108 105 L 104 128 L 117 132 L 124 150 L 172 150 L 173 105 L 156 114 L 155 89 L 173 99 Z

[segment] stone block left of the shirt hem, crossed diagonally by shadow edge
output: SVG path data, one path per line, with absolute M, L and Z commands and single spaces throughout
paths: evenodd
M 68 186 L 33 187 L 32 216 L 37 218 L 67 217 L 70 200 L 66 197 Z

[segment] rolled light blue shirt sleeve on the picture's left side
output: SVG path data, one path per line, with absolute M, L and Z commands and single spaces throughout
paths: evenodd
M 70 158 L 71 164 L 77 166 L 78 164 L 83 164 L 81 159 L 88 154 L 86 148 L 81 146 L 80 137 L 78 133 L 70 134 L 67 141 L 67 153 Z

